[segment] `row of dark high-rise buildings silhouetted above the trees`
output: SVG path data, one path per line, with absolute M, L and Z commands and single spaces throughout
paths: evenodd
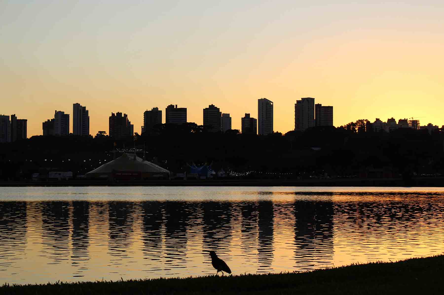
M 262 98 L 262 99 L 258 99 L 258 102 L 266 100 L 268 101 L 266 98 Z M 305 104 L 303 105 L 303 103 L 301 102 L 306 102 L 307 100 L 311 100 L 311 104 Z M 315 126 L 334 126 L 333 125 L 333 119 L 335 116 L 333 116 L 333 106 L 322 106 L 322 104 L 320 103 L 314 103 L 315 98 L 311 98 L 311 97 L 306 97 L 306 98 L 301 98 L 300 100 L 297 100 L 294 104 L 294 128 L 292 130 L 294 131 L 305 131 L 308 128 L 312 128 Z M 244 120 L 250 120 L 250 117 L 252 118 L 251 120 L 255 120 L 254 122 L 252 121 L 251 123 L 248 123 L 248 125 L 246 126 L 250 126 L 250 124 L 252 124 L 252 127 L 256 126 L 256 128 L 254 128 L 254 130 L 250 130 L 250 129 L 246 129 L 246 132 L 253 132 L 256 133 L 258 135 L 267 135 L 271 132 L 279 132 L 279 131 L 275 131 L 274 130 L 274 124 L 273 124 L 273 117 L 274 117 L 274 110 L 273 110 L 273 102 L 271 102 L 271 110 L 270 110 L 270 114 L 271 114 L 271 119 L 268 118 L 267 116 L 270 115 L 266 115 L 266 113 L 264 113 L 262 111 L 262 107 L 261 107 L 261 103 L 259 103 L 258 105 L 258 112 L 257 112 L 257 118 L 253 118 L 252 116 L 250 116 L 249 113 L 245 113 L 245 116 L 248 116 L 248 118 L 246 117 L 242 117 L 241 121 L 241 127 L 237 130 L 239 130 L 240 132 L 242 132 L 243 128 L 244 128 Z M 316 101 L 318 102 L 318 101 Z M 301 103 L 301 104 L 299 104 Z M 79 103 L 75 103 L 74 105 L 74 109 L 73 109 L 73 116 L 72 116 L 72 123 L 70 124 L 70 114 L 67 112 L 63 112 L 63 111 L 57 111 L 55 112 L 54 118 L 48 119 L 46 121 L 43 122 L 43 131 L 40 134 L 36 134 L 36 135 L 92 135 L 94 136 L 95 132 L 90 132 L 90 116 L 88 116 L 88 110 L 86 109 L 86 106 L 83 106 L 83 119 L 82 119 L 82 112 L 80 111 L 80 115 L 77 114 L 76 116 L 76 112 L 78 107 L 82 107 L 82 105 L 79 105 Z M 303 105 L 303 106 L 301 106 Z M 172 109 L 170 109 L 170 107 L 172 107 Z M 217 110 L 220 110 L 219 108 L 217 108 L 217 106 L 214 105 L 209 105 L 209 107 L 213 107 Z M 177 105 L 175 105 L 175 108 L 177 109 Z M 115 117 L 115 113 L 111 113 L 111 116 L 109 116 L 109 125 L 107 130 L 108 131 L 97 131 L 97 135 L 100 136 L 111 136 L 113 138 L 115 138 L 116 140 L 120 140 L 123 139 L 125 137 L 129 137 L 134 135 L 135 133 L 141 135 L 144 132 L 151 132 L 152 129 L 155 128 L 159 128 L 159 124 L 196 124 L 195 122 L 189 122 L 186 120 L 186 114 L 188 113 L 188 109 L 186 107 L 182 107 L 179 108 L 180 109 L 180 113 L 178 113 L 178 115 L 174 115 L 174 116 L 181 116 L 180 119 L 174 119 L 174 120 L 178 120 L 178 121 L 170 121 L 167 118 L 167 114 L 168 114 L 168 110 L 174 110 L 174 105 L 168 105 L 165 110 L 166 112 L 164 116 L 162 116 L 162 109 L 159 109 L 158 107 L 154 107 L 152 108 L 150 111 L 145 111 L 143 113 L 143 125 L 139 128 L 139 130 L 137 130 L 137 127 L 134 126 L 134 124 L 131 124 L 131 121 L 128 119 L 127 114 L 124 113 L 122 114 L 122 112 L 116 112 L 117 114 L 117 118 L 120 118 L 118 121 L 116 121 L 116 117 Z M 203 114 L 203 124 L 200 124 L 200 126 L 206 126 L 207 128 L 210 128 L 212 131 L 222 131 L 225 132 L 226 130 L 230 130 L 230 129 L 234 129 L 236 130 L 236 128 L 231 128 L 231 121 L 232 121 L 232 117 L 230 116 L 230 113 L 222 113 L 222 112 L 216 112 L 214 115 L 212 116 L 217 116 L 216 114 L 218 113 L 218 118 L 213 118 L 212 120 L 216 120 L 216 121 L 220 121 L 220 126 L 218 126 L 218 124 L 216 124 L 217 128 L 214 128 L 214 121 L 210 121 L 208 119 L 205 119 L 206 115 L 206 110 L 208 110 L 209 108 L 204 108 L 204 114 Z M 153 113 L 155 112 L 155 113 Z M 268 112 L 268 111 L 267 111 Z M 59 113 L 63 114 L 62 118 L 58 115 Z M 153 113 L 153 115 L 150 115 L 150 113 Z M 307 115 L 303 115 L 303 114 L 308 114 Z M 316 116 L 315 116 L 316 114 Z M 221 116 L 222 115 L 222 116 Z M 80 116 L 80 117 L 79 117 Z M 120 122 L 122 121 L 122 116 L 123 119 L 126 120 L 126 123 L 124 125 L 122 125 L 123 123 Z M 15 114 L 11 115 L 11 119 L 9 120 L 8 115 L 2 115 L 1 117 L 1 128 L 3 131 L 5 131 L 6 129 L 9 129 L 9 134 L 8 136 L 6 136 L 6 133 L 2 135 L 2 137 L 0 138 L 0 142 L 13 142 L 17 139 L 23 139 L 23 138 L 29 138 L 32 137 L 34 135 L 29 135 L 27 136 L 27 119 L 24 120 L 18 120 L 20 122 L 24 121 L 24 127 L 20 127 L 22 123 L 19 124 L 19 128 L 17 128 L 17 126 L 15 128 L 13 128 L 13 124 L 12 124 L 12 119 L 13 117 L 16 119 Z M 151 118 L 152 117 L 152 118 Z M 162 119 L 162 117 L 164 117 L 164 120 Z M 229 119 L 229 127 L 222 127 L 222 121 L 224 120 L 224 117 Z M 262 122 L 264 122 L 263 120 L 265 119 L 266 121 L 268 121 L 269 124 L 269 130 L 268 132 L 265 132 L 261 129 L 261 122 L 259 120 L 259 123 L 257 123 L 258 119 L 261 119 L 262 117 Z M 366 120 L 366 119 L 359 119 L 356 122 L 349 122 L 348 124 L 344 124 L 342 126 L 337 126 L 337 127 L 341 127 L 341 128 L 357 128 L 354 127 L 353 124 L 361 124 L 358 122 L 361 121 L 365 121 L 368 122 L 367 124 L 371 124 L 371 126 L 369 128 L 373 128 L 374 131 L 385 131 L 385 132 L 391 132 L 394 131 L 398 128 L 413 128 L 415 130 L 419 130 L 419 129 L 427 129 L 429 133 L 431 133 L 433 130 L 436 129 L 440 129 L 440 125 L 434 125 L 432 123 L 428 123 L 424 125 L 421 125 L 421 118 L 426 118 L 425 116 L 421 116 L 421 117 L 409 117 L 406 118 L 404 116 L 404 118 L 400 118 L 397 122 L 396 119 L 392 118 L 388 118 L 385 121 L 382 121 L 380 118 L 376 117 L 375 120 L 372 122 L 371 120 Z M 112 124 L 111 124 L 111 119 L 112 119 Z M 9 120 L 8 126 L 6 127 L 5 122 L 7 122 Z M 61 121 L 62 120 L 62 121 Z M 207 121 L 206 121 L 207 120 Z M 427 122 L 427 121 L 426 121 Z M 63 124 L 63 128 L 60 129 L 60 124 Z M 115 124 L 120 124 L 122 126 L 119 127 L 119 132 L 116 133 L 115 128 L 118 127 L 118 125 Z M 254 124 L 254 125 L 253 125 Z M 264 124 L 264 123 L 262 123 Z M 270 125 L 271 124 L 271 125 Z M 83 127 L 79 127 L 82 126 Z M 199 124 L 197 124 L 199 125 Z M 246 127 L 246 128 L 252 128 L 252 127 Z M 444 127 L 444 125 L 442 125 L 442 127 Z M 6 129 L 5 129 L 6 128 Z M 21 130 L 21 128 L 24 128 L 24 132 Z M 79 129 L 82 128 L 82 129 Z M 120 130 L 121 128 L 124 128 L 124 132 L 122 130 Z M 4 130 L 5 129 L 5 130 Z M 365 129 L 365 128 L 364 128 Z M 62 131 L 60 131 L 62 130 Z M 292 131 L 289 130 L 289 131 Z M 17 133 L 17 134 L 16 134 Z M 91 134 L 92 133 L 92 134 Z M 282 132 L 281 132 L 282 133 Z M 286 133 L 286 132 L 283 132 Z M 14 139 L 15 136 L 15 139 Z M 8 139 L 6 139 L 8 138 Z

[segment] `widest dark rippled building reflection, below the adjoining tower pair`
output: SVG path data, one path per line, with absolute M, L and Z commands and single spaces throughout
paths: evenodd
M 313 269 L 333 261 L 333 202 L 294 202 L 296 267 Z

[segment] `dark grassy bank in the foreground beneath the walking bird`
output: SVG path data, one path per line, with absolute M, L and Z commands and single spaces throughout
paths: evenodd
M 444 294 L 444 255 L 312 272 L 3 286 L 0 294 Z

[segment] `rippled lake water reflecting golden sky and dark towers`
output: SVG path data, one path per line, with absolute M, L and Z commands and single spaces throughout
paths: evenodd
M 304 271 L 444 252 L 444 189 L 0 187 L 0 283 Z M 220 273 L 219 273 L 220 274 Z

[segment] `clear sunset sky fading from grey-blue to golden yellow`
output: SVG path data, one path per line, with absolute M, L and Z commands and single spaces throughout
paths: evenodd
M 334 125 L 420 117 L 444 124 L 444 2 L 0 1 L 0 113 L 28 119 L 28 137 L 72 104 L 90 133 L 111 112 L 140 132 L 143 112 L 169 104 L 202 124 L 214 104 L 294 128 L 294 103 L 333 105 Z

